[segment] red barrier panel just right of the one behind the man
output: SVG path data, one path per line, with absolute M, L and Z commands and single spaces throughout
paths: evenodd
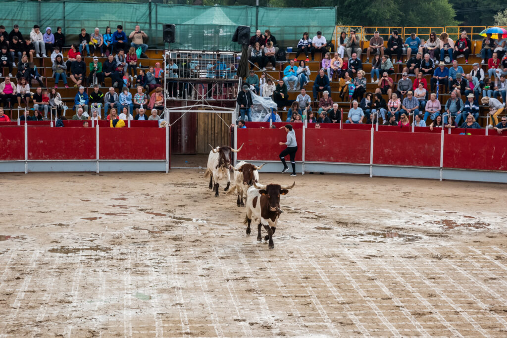
M 369 130 L 324 128 L 306 129 L 305 133 L 305 161 L 370 163 Z

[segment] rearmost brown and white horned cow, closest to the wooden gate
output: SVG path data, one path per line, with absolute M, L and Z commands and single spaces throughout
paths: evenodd
M 227 177 L 227 186 L 224 191 L 229 190 L 229 186 L 231 185 L 231 173 L 229 168 L 231 166 L 231 152 L 237 153 L 243 147 L 243 144 L 239 147 L 239 149 L 233 149 L 227 145 L 218 146 L 213 148 L 211 144 L 211 152 L 209 152 L 208 156 L 208 167 L 206 172 L 204 173 L 204 177 L 209 177 L 209 189 L 215 191 L 215 197 L 219 196 L 219 179 L 224 176 Z

